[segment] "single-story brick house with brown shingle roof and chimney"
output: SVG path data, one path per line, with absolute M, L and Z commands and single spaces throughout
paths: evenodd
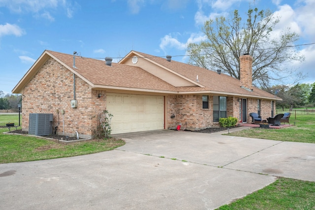
M 273 94 L 252 86 L 252 57 L 243 55 L 241 80 L 197 66 L 131 51 L 119 63 L 45 50 L 13 93 L 22 93 L 22 129 L 30 113 L 53 114 L 58 134 L 91 137 L 98 114 L 113 114 L 112 134 L 219 126 L 219 118 L 273 116 Z M 54 130 L 54 129 L 53 129 Z

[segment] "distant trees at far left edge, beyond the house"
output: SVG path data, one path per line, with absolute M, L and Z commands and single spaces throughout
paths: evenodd
M 0 90 L 0 110 L 14 110 L 18 111 L 18 104 L 22 104 L 21 94 L 4 94 Z

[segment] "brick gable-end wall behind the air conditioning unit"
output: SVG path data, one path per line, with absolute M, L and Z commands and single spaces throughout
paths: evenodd
M 75 77 L 77 108 L 70 105 L 73 93 L 73 73 L 56 60 L 48 59 L 23 90 L 23 130 L 29 129 L 30 113 L 52 113 L 53 132 L 58 126 L 60 135 L 64 132 L 73 136 L 78 131 L 80 138 L 91 137 L 98 123 L 97 114 L 106 108 L 106 94 L 92 90 L 78 76 Z M 98 93 L 102 93 L 100 98 Z

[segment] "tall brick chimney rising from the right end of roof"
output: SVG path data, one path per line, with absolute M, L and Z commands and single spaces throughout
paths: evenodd
M 241 88 L 252 91 L 252 56 L 249 54 L 240 56 L 240 80 Z

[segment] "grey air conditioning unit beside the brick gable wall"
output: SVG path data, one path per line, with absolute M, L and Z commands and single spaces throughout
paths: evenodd
M 53 114 L 30 113 L 29 134 L 48 136 L 52 134 Z

